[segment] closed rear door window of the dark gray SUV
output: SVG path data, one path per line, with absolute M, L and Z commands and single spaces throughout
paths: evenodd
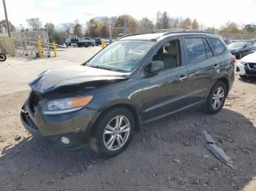
M 189 63 L 206 60 L 206 49 L 202 38 L 185 39 Z

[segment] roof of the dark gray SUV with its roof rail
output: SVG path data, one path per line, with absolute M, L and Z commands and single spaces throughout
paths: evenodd
M 213 34 L 206 31 L 199 30 L 177 30 L 177 31 L 167 31 L 162 33 L 152 33 L 152 34 L 128 34 L 122 36 L 120 40 L 157 40 L 162 36 L 176 36 L 177 34 Z

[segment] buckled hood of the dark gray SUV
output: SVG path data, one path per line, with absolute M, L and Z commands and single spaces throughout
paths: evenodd
M 48 93 L 64 86 L 86 85 L 86 83 L 93 85 L 93 82 L 105 84 L 124 79 L 127 79 L 127 75 L 116 71 L 88 66 L 71 66 L 44 71 L 30 82 L 29 86 L 37 93 Z

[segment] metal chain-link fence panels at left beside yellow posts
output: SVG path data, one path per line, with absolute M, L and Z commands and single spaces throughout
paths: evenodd
M 47 31 L 12 32 L 12 48 L 15 56 L 38 57 L 38 40 L 42 44 L 42 57 L 50 57 L 50 44 Z M 0 34 L 1 52 L 10 54 L 10 44 L 7 34 Z

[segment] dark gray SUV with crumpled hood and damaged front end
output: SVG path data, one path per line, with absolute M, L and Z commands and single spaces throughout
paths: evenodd
M 39 74 L 29 83 L 20 120 L 54 147 L 90 145 L 113 157 L 146 122 L 198 105 L 219 112 L 233 85 L 235 62 L 216 34 L 125 36 L 83 66 Z

